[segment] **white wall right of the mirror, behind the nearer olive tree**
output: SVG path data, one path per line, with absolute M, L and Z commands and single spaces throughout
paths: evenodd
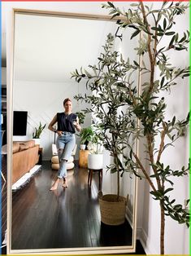
M 155 5 L 157 6 L 157 3 Z M 186 29 L 189 29 L 189 11 L 186 15 L 176 18 L 176 31 L 182 35 Z M 169 39 L 163 41 L 163 45 L 168 43 Z M 189 65 L 189 53 L 186 51 L 171 50 L 170 57 L 172 64 L 177 67 L 184 68 Z M 157 79 L 158 76 L 157 72 L 155 78 Z M 179 120 L 184 119 L 189 112 L 189 79 L 180 79 L 177 86 L 171 88 L 171 94 L 164 93 L 163 95 L 167 103 L 167 120 L 171 120 L 174 115 Z M 159 138 L 156 143 L 159 143 Z M 165 165 L 170 165 L 172 170 L 180 170 L 181 166 L 188 166 L 188 133 L 175 143 L 175 148 L 165 150 L 162 161 Z M 189 198 L 189 177 L 173 179 L 173 182 L 175 190 L 170 194 L 171 199 L 175 198 L 177 204 L 184 205 L 184 199 Z M 147 254 L 159 254 L 160 210 L 158 201 L 154 201 L 151 196 L 148 197 L 149 192 L 150 188 L 145 182 L 144 196 L 142 196 L 144 209 L 142 210 L 141 240 Z M 170 217 L 166 217 L 165 223 L 165 254 L 189 254 L 189 229 L 185 224 L 178 224 Z

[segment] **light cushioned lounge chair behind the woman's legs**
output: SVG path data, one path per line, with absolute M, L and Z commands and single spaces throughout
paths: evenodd
M 74 168 L 74 156 L 76 155 L 76 149 L 77 149 L 77 144 L 75 145 L 72 151 L 72 156 L 67 161 L 67 170 L 71 170 Z M 59 170 L 59 157 L 58 157 L 58 151 L 55 144 L 52 144 L 52 155 L 53 157 L 51 158 L 51 168 L 53 170 Z

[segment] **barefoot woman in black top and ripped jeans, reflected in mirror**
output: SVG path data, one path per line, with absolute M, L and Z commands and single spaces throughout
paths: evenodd
M 58 134 L 56 147 L 59 155 L 59 174 L 50 190 L 58 188 L 60 179 L 63 179 L 63 188 L 67 188 L 67 160 L 72 155 L 72 150 L 76 144 L 75 128 L 80 131 L 80 125 L 76 114 L 72 113 L 72 101 L 67 98 L 63 100 L 63 113 L 57 113 L 48 126 L 49 130 Z M 57 122 L 58 129 L 54 129 Z

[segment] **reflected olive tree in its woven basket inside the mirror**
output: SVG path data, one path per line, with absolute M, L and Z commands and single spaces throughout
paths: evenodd
M 87 70 L 72 73 L 76 82 L 87 79 L 86 86 L 92 91 L 92 95 L 76 95 L 77 100 L 85 101 L 91 105 L 86 113 L 93 113 L 94 126 L 97 138 L 102 141 L 103 147 L 108 150 L 113 163 L 107 166 L 111 174 L 116 174 L 116 194 L 99 195 L 102 222 L 110 225 L 124 223 L 126 198 L 120 196 L 120 176 L 126 170 L 122 158 L 124 150 L 124 137 L 129 136 L 129 122 L 135 126 L 135 120 L 129 115 L 127 106 L 129 89 L 121 82 L 121 78 L 127 76 L 129 64 L 119 52 L 113 51 L 114 36 L 107 36 L 104 52 L 98 57 L 98 64 L 89 66 L 93 74 Z M 132 92 L 136 92 L 136 88 Z M 107 212 L 110 214 L 107 214 Z

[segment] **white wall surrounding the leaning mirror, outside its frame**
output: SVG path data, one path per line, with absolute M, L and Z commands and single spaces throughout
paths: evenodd
M 85 6 L 84 6 L 85 4 Z M 81 13 L 97 13 L 97 14 L 107 14 L 107 11 L 100 8 L 100 2 L 2 2 L 2 15 L 6 17 L 6 21 L 2 20 L 2 33 L 5 32 L 7 25 L 7 87 L 9 88 L 11 84 L 10 74 L 11 74 L 11 8 L 28 8 L 28 9 L 40 9 L 40 10 L 50 10 L 50 11 L 74 11 Z M 119 4 L 119 3 L 116 3 Z M 127 6 L 127 2 L 120 3 Z M 3 17 L 2 17 L 3 18 Z M 6 24 L 5 24 L 6 23 Z M 182 29 L 187 26 L 189 28 L 189 14 L 186 17 L 182 17 L 177 24 L 178 29 Z M 176 64 L 180 64 L 182 58 L 182 52 L 175 58 Z M 188 62 L 188 58 L 186 59 Z M 184 61 L 183 61 L 184 62 Z M 187 84 L 188 85 L 188 84 Z M 180 99 L 183 99 L 186 108 L 189 108 L 188 97 L 189 90 L 188 86 L 180 85 L 179 89 L 175 90 L 171 97 L 168 97 L 169 103 L 173 106 L 173 111 L 177 109 L 177 104 L 181 104 Z M 185 108 L 184 108 L 185 109 Z M 185 111 L 180 105 L 180 116 L 184 116 Z M 11 120 L 9 120 L 11 124 Z M 46 135 L 46 134 L 45 134 Z M 53 138 L 51 138 L 53 139 Z M 181 164 L 186 164 L 189 150 L 185 148 L 189 147 L 188 139 L 183 138 L 174 151 L 167 153 L 167 159 L 165 161 L 171 161 L 177 168 Z M 176 155 L 175 155 L 176 152 Z M 176 156 L 176 157 L 175 157 Z M 177 159 L 178 157 L 178 159 Z M 106 179 L 114 179 L 113 177 L 107 176 Z M 106 179 L 103 181 L 108 190 L 111 189 L 110 183 L 106 183 Z M 145 242 L 146 252 L 150 254 L 159 254 L 159 240 L 158 240 L 158 207 L 149 196 L 149 188 L 141 181 L 141 186 L 139 188 L 139 199 L 138 199 L 138 228 L 142 231 L 142 241 Z M 144 187 L 144 190 L 141 187 Z M 109 188 L 110 187 L 110 188 Z M 184 200 L 184 197 L 188 196 L 189 192 L 189 182 L 187 179 L 179 182 L 177 190 L 174 192 L 173 196 L 177 198 L 177 201 Z M 141 232 L 140 232 L 141 234 Z M 189 254 L 189 232 L 183 225 L 176 224 L 167 218 L 166 222 L 166 253 L 167 254 Z

